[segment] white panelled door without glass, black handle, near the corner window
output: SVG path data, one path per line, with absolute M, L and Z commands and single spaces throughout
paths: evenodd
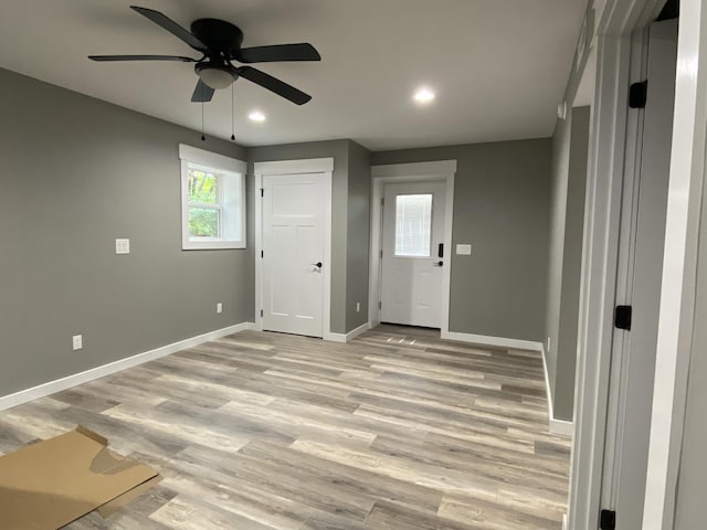
M 323 336 L 326 178 L 263 177 L 263 329 Z

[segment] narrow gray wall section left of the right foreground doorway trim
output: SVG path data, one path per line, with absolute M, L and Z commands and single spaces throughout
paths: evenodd
M 557 420 L 572 421 L 590 107 L 558 120 L 552 141 L 552 200 L 546 342 L 548 379 Z

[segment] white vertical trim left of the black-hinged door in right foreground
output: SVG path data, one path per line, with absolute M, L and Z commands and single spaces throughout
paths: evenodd
M 582 244 L 569 528 L 599 527 L 613 342 L 631 40 L 597 38 Z

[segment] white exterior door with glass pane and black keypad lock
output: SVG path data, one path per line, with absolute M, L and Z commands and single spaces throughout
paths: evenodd
M 381 321 L 442 326 L 444 182 L 386 184 Z

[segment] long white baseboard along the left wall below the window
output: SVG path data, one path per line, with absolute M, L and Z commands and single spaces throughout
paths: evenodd
M 0 411 L 12 409 L 13 406 L 39 400 L 40 398 L 45 398 L 56 392 L 61 392 L 62 390 L 67 390 L 76 386 L 78 384 L 105 378 L 106 375 L 110 375 L 112 373 L 137 367 L 138 364 L 143 364 L 145 362 L 152 361 L 155 359 L 159 359 L 161 357 L 166 357 L 181 350 L 186 350 L 187 348 L 193 348 L 194 346 L 208 342 L 210 340 L 220 339 L 221 337 L 226 337 L 229 335 L 238 333 L 239 331 L 244 331 L 246 329 L 253 328 L 253 322 L 236 324 L 235 326 L 229 326 L 228 328 L 217 329 L 214 331 L 209 331 L 208 333 L 199 335 L 197 337 L 190 337 L 189 339 L 172 342 L 171 344 L 162 346 L 150 351 L 145 351 L 143 353 L 128 357 L 127 359 L 120 359 L 119 361 L 103 364 L 102 367 L 92 368 L 91 370 L 75 373 L 73 375 L 67 375 L 65 378 L 57 379 L 56 381 L 50 381 L 31 389 L 21 390 L 13 394 L 0 396 Z

